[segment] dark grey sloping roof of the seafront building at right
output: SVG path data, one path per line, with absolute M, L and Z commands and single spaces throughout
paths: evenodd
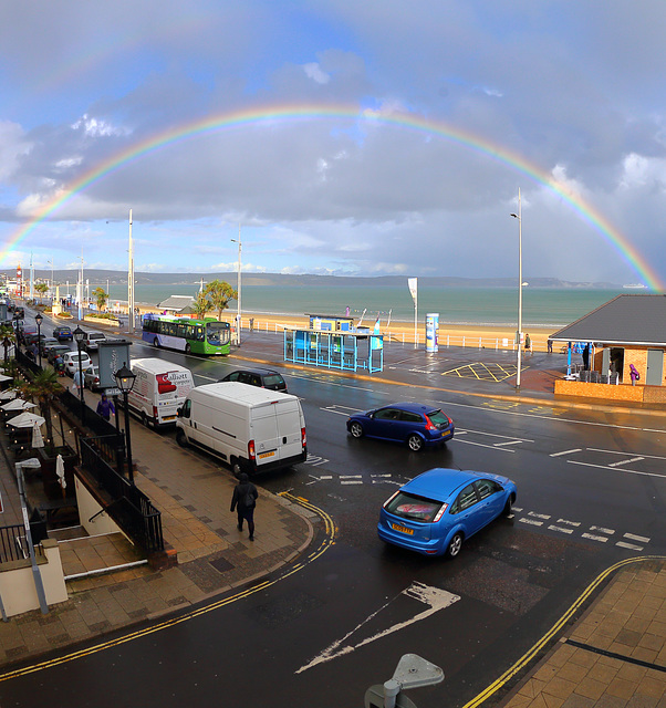
M 617 295 L 550 339 L 666 347 L 666 295 Z

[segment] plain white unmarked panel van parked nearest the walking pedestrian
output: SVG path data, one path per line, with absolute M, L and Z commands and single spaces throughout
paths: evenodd
M 305 418 L 291 394 L 238 382 L 192 388 L 176 421 L 176 440 L 196 445 L 227 462 L 235 475 L 304 462 Z

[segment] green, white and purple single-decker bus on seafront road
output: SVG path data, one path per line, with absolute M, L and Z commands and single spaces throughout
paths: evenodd
M 227 356 L 231 348 L 231 326 L 215 317 L 190 320 L 175 315 L 147 313 L 143 317 L 144 342 L 178 350 L 186 354 Z

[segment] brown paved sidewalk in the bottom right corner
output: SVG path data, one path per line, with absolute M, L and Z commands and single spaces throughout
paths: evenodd
M 501 705 L 664 708 L 666 560 L 639 561 L 618 570 Z

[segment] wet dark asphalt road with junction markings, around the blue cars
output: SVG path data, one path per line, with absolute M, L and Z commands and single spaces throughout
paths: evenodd
M 133 356 L 184 363 L 198 384 L 239 364 L 142 350 L 133 346 Z M 63 706 L 116 706 L 129 697 L 162 706 L 362 706 L 365 689 L 389 678 L 407 652 L 446 674 L 444 684 L 409 693 L 419 708 L 460 706 L 542 636 L 603 569 L 666 551 L 666 433 L 649 416 L 508 405 L 323 372 L 287 374 L 303 399 L 311 456 L 259 481 L 329 514 L 335 543 L 298 573 L 227 603 L 6 681 L 2 706 L 33 705 L 41 690 Z M 417 398 L 455 419 L 456 438 L 446 448 L 413 454 L 345 433 L 352 410 Z M 513 518 L 470 539 L 455 561 L 385 546 L 376 537 L 381 503 L 436 466 L 492 470 L 519 489 Z M 324 543 L 324 527 L 318 528 Z

